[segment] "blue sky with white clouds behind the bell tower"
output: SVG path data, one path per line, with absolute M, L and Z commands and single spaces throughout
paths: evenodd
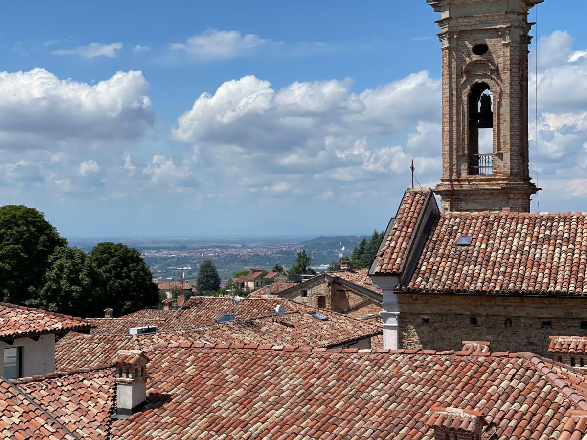
M 436 183 L 424 0 L 171 4 L 3 5 L 0 204 L 66 236 L 368 233 L 411 157 Z M 585 16 L 538 7 L 541 211 L 587 211 Z

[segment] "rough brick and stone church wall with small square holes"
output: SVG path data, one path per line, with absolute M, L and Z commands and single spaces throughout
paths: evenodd
M 491 351 L 530 351 L 550 357 L 549 336 L 587 336 L 587 299 L 482 295 L 398 298 L 402 348 L 460 350 L 463 340 L 490 341 Z

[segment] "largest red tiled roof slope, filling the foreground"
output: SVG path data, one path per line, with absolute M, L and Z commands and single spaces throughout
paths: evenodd
M 352 351 L 151 351 L 147 405 L 112 433 L 433 440 L 429 410 L 438 405 L 478 411 L 500 440 L 584 438 L 585 395 L 542 360 Z

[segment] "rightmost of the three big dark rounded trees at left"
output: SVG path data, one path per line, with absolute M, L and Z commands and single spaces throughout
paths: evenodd
M 104 306 L 122 315 L 158 305 L 159 290 L 139 251 L 122 243 L 100 243 L 90 255 L 104 279 Z

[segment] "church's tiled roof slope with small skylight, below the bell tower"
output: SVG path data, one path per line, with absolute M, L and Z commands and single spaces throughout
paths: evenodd
M 587 214 L 443 212 L 402 290 L 587 295 Z M 410 224 L 413 222 L 410 222 Z M 470 246 L 458 246 L 470 236 Z

